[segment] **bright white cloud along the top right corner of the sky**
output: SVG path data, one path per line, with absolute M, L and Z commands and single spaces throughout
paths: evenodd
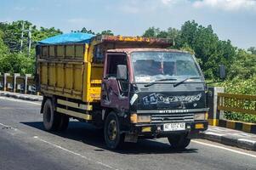
M 255 0 L 196 0 L 195 8 L 218 8 L 225 11 L 255 10 Z

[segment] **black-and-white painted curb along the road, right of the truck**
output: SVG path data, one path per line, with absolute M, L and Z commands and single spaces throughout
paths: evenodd
M 208 139 L 210 141 L 218 142 L 220 144 L 236 146 L 245 150 L 256 151 L 256 141 L 238 138 L 235 135 L 204 132 L 202 133 L 202 139 Z

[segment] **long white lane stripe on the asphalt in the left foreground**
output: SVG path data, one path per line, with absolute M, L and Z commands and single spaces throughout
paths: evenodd
M 94 160 L 92 160 L 91 158 L 88 158 L 87 156 L 82 156 L 81 154 L 78 154 L 77 152 L 74 152 L 74 151 L 65 149 L 65 148 L 63 148 L 63 147 L 61 147 L 60 145 L 57 145 L 57 144 L 52 144 L 52 143 L 48 142 L 47 140 L 38 138 L 37 136 L 34 136 L 34 139 L 38 139 L 38 140 L 42 141 L 43 143 L 50 144 L 50 145 L 52 145 L 52 146 L 54 146 L 54 147 L 56 147 L 56 148 L 59 148 L 60 150 L 65 150 L 66 152 L 69 152 L 69 153 L 71 153 L 71 154 L 73 154 L 73 155 L 75 155 L 75 156 L 80 156 L 80 157 L 82 157 L 83 159 L 86 159 L 86 160 L 88 160 L 88 161 L 94 161 Z M 105 163 L 103 163 L 103 162 L 100 162 L 100 161 L 94 161 L 94 162 L 95 162 L 95 163 L 98 163 L 98 164 L 100 164 L 100 165 L 102 165 L 102 166 L 104 166 L 104 167 L 108 167 L 108 168 L 110 168 L 110 169 L 118 170 L 118 169 L 116 169 L 115 167 L 111 167 L 111 166 L 109 166 L 109 165 L 107 165 L 107 164 L 105 164 Z

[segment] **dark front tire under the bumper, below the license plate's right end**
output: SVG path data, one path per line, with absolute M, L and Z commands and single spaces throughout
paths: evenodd
M 183 150 L 191 143 L 191 139 L 188 139 L 184 134 L 169 136 L 168 141 L 171 144 L 171 148 L 177 150 Z

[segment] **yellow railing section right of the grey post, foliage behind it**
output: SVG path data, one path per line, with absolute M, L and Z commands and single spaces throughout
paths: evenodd
M 256 96 L 244 94 L 218 94 L 219 111 L 235 111 L 256 115 Z

